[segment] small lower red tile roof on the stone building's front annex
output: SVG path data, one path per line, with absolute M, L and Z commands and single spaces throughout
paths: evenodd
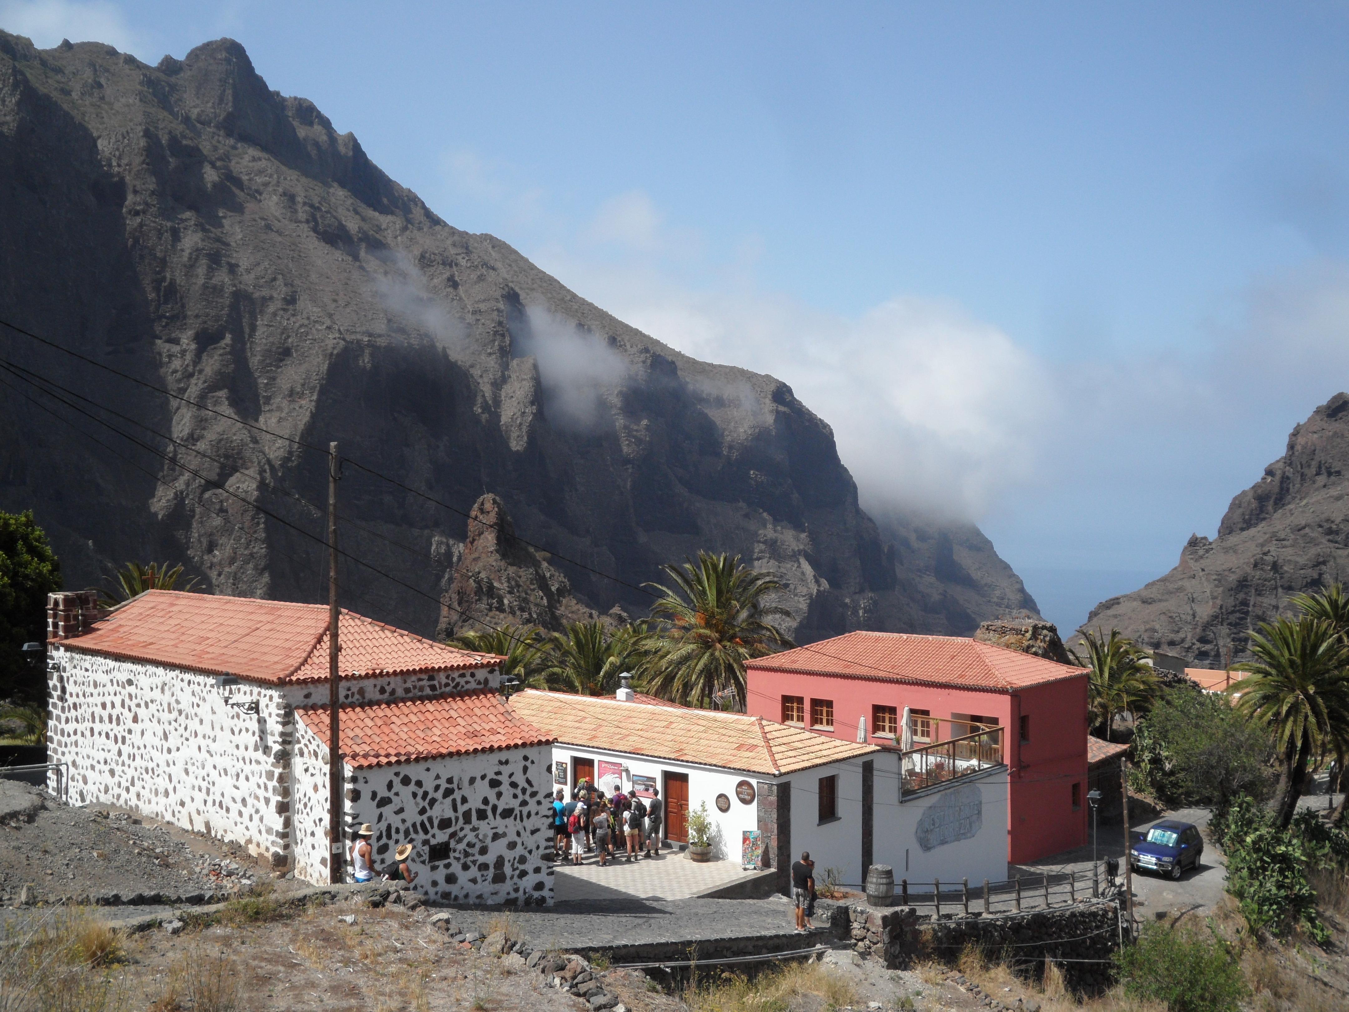
M 326 748 L 328 707 L 295 707 L 295 714 Z M 357 769 L 552 742 L 492 690 L 344 706 L 339 716 L 343 760 Z

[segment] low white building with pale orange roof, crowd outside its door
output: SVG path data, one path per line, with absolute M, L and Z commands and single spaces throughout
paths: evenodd
M 757 833 L 755 864 L 778 869 L 780 889 L 803 850 L 849 884 L 862 884 L 873 864 L 889 865 L 896 882 L 1006 878 L 1005 766 L 901 803 L 900 753 L 874 745 L 649 696 L 527 690 L 510 706 L 556 739 L 554 788 L 569 796 L 580 777 L 606 793 L 656 787 L 674 842 L 687 842 L 688 812 L 706 804 L 714 855 L 741 861 L 746 834 Z

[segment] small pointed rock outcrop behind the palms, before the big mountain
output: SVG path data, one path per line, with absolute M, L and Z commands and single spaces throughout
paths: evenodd
M 549 631 L 595 613 L 572 594 L 567 578 L 515 537 L 515 524 L 494 493 L 468 514 L 468 540 L 441 596 L 436 636 L 448 640 L 487 626 L 536 625 Z

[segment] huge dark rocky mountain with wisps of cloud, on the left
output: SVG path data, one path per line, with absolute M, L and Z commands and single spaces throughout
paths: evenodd
M 171 559 L 324 599 L 337 441 L 343 599 L 426 633 L 484 493 L 600 614 L 701 548 L 778 571 L 803 642 L 1035 607 L 973 525 L 878 528 L 788 386 L 448 225 L 233 40 L 151 67 L 0 34 L 0 320 L 84 356 L 0 328 L 31 371 L 0 372 L 0 509 L 73 586 Z

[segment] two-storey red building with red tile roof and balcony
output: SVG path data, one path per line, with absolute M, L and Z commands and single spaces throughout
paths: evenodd
M 749 661 L 746 679 L 755 716 L 902 749 L 901 804 L 951 779 L 1005 779 L 1013 864 L 1087 842 L 1085 668 L 965 637 L 849 633 Z

